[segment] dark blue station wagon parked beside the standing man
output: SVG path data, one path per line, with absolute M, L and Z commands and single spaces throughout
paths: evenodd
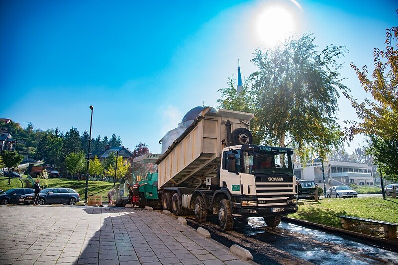
M 19 197 L 19 204 L 32 204 L 34 193 Z M 68 203 L 75 205 L 80 201 L 80 194 L 71 188 L 45 188 L 40 191 L 38 203 L 40 205 L 52 203 Z

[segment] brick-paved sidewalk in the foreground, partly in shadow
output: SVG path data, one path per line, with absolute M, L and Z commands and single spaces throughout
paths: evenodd
M 0 216 L 0 265 L 254 264 L 158 211 L 17 205 Z

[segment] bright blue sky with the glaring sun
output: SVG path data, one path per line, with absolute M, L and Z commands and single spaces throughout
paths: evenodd
M 2 0 L 0 118 L 47 130 L 72 126 L 120 136 L 160 153 L 159 140 L 195 106 L 217 107 L 228 77 L 290 30 L 319 49 L 344 45 L 341 73 L 365 94 L 349 64 L 373 69 L 373 48 L 398 25 L 394 0 Z M 356 119 L 345 97 L 339 120 Z M 347 148 L 359 147 L 363 138 Z

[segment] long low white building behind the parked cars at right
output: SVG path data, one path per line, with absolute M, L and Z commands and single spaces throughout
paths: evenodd
M 375 185 L 372 167 L 367 164 L 328 161 L 323 163 L 323 172 L 326 188 L 330 187 L 330 182 L 332 186 L 340 183 L 360 186 Z M 307 163 L 305 168 L 302 165 L 296 166 L 295 174 L 300 179 L 314 180 L 318 185 L 323 183 L 322 163 L 319 159 L 314 159 L 313 163 Z

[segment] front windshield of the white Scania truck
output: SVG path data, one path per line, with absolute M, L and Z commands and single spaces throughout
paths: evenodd
M 269 151 L 243 151 L 244 170 L 246 174 L 293 176 L 292 155 Z

